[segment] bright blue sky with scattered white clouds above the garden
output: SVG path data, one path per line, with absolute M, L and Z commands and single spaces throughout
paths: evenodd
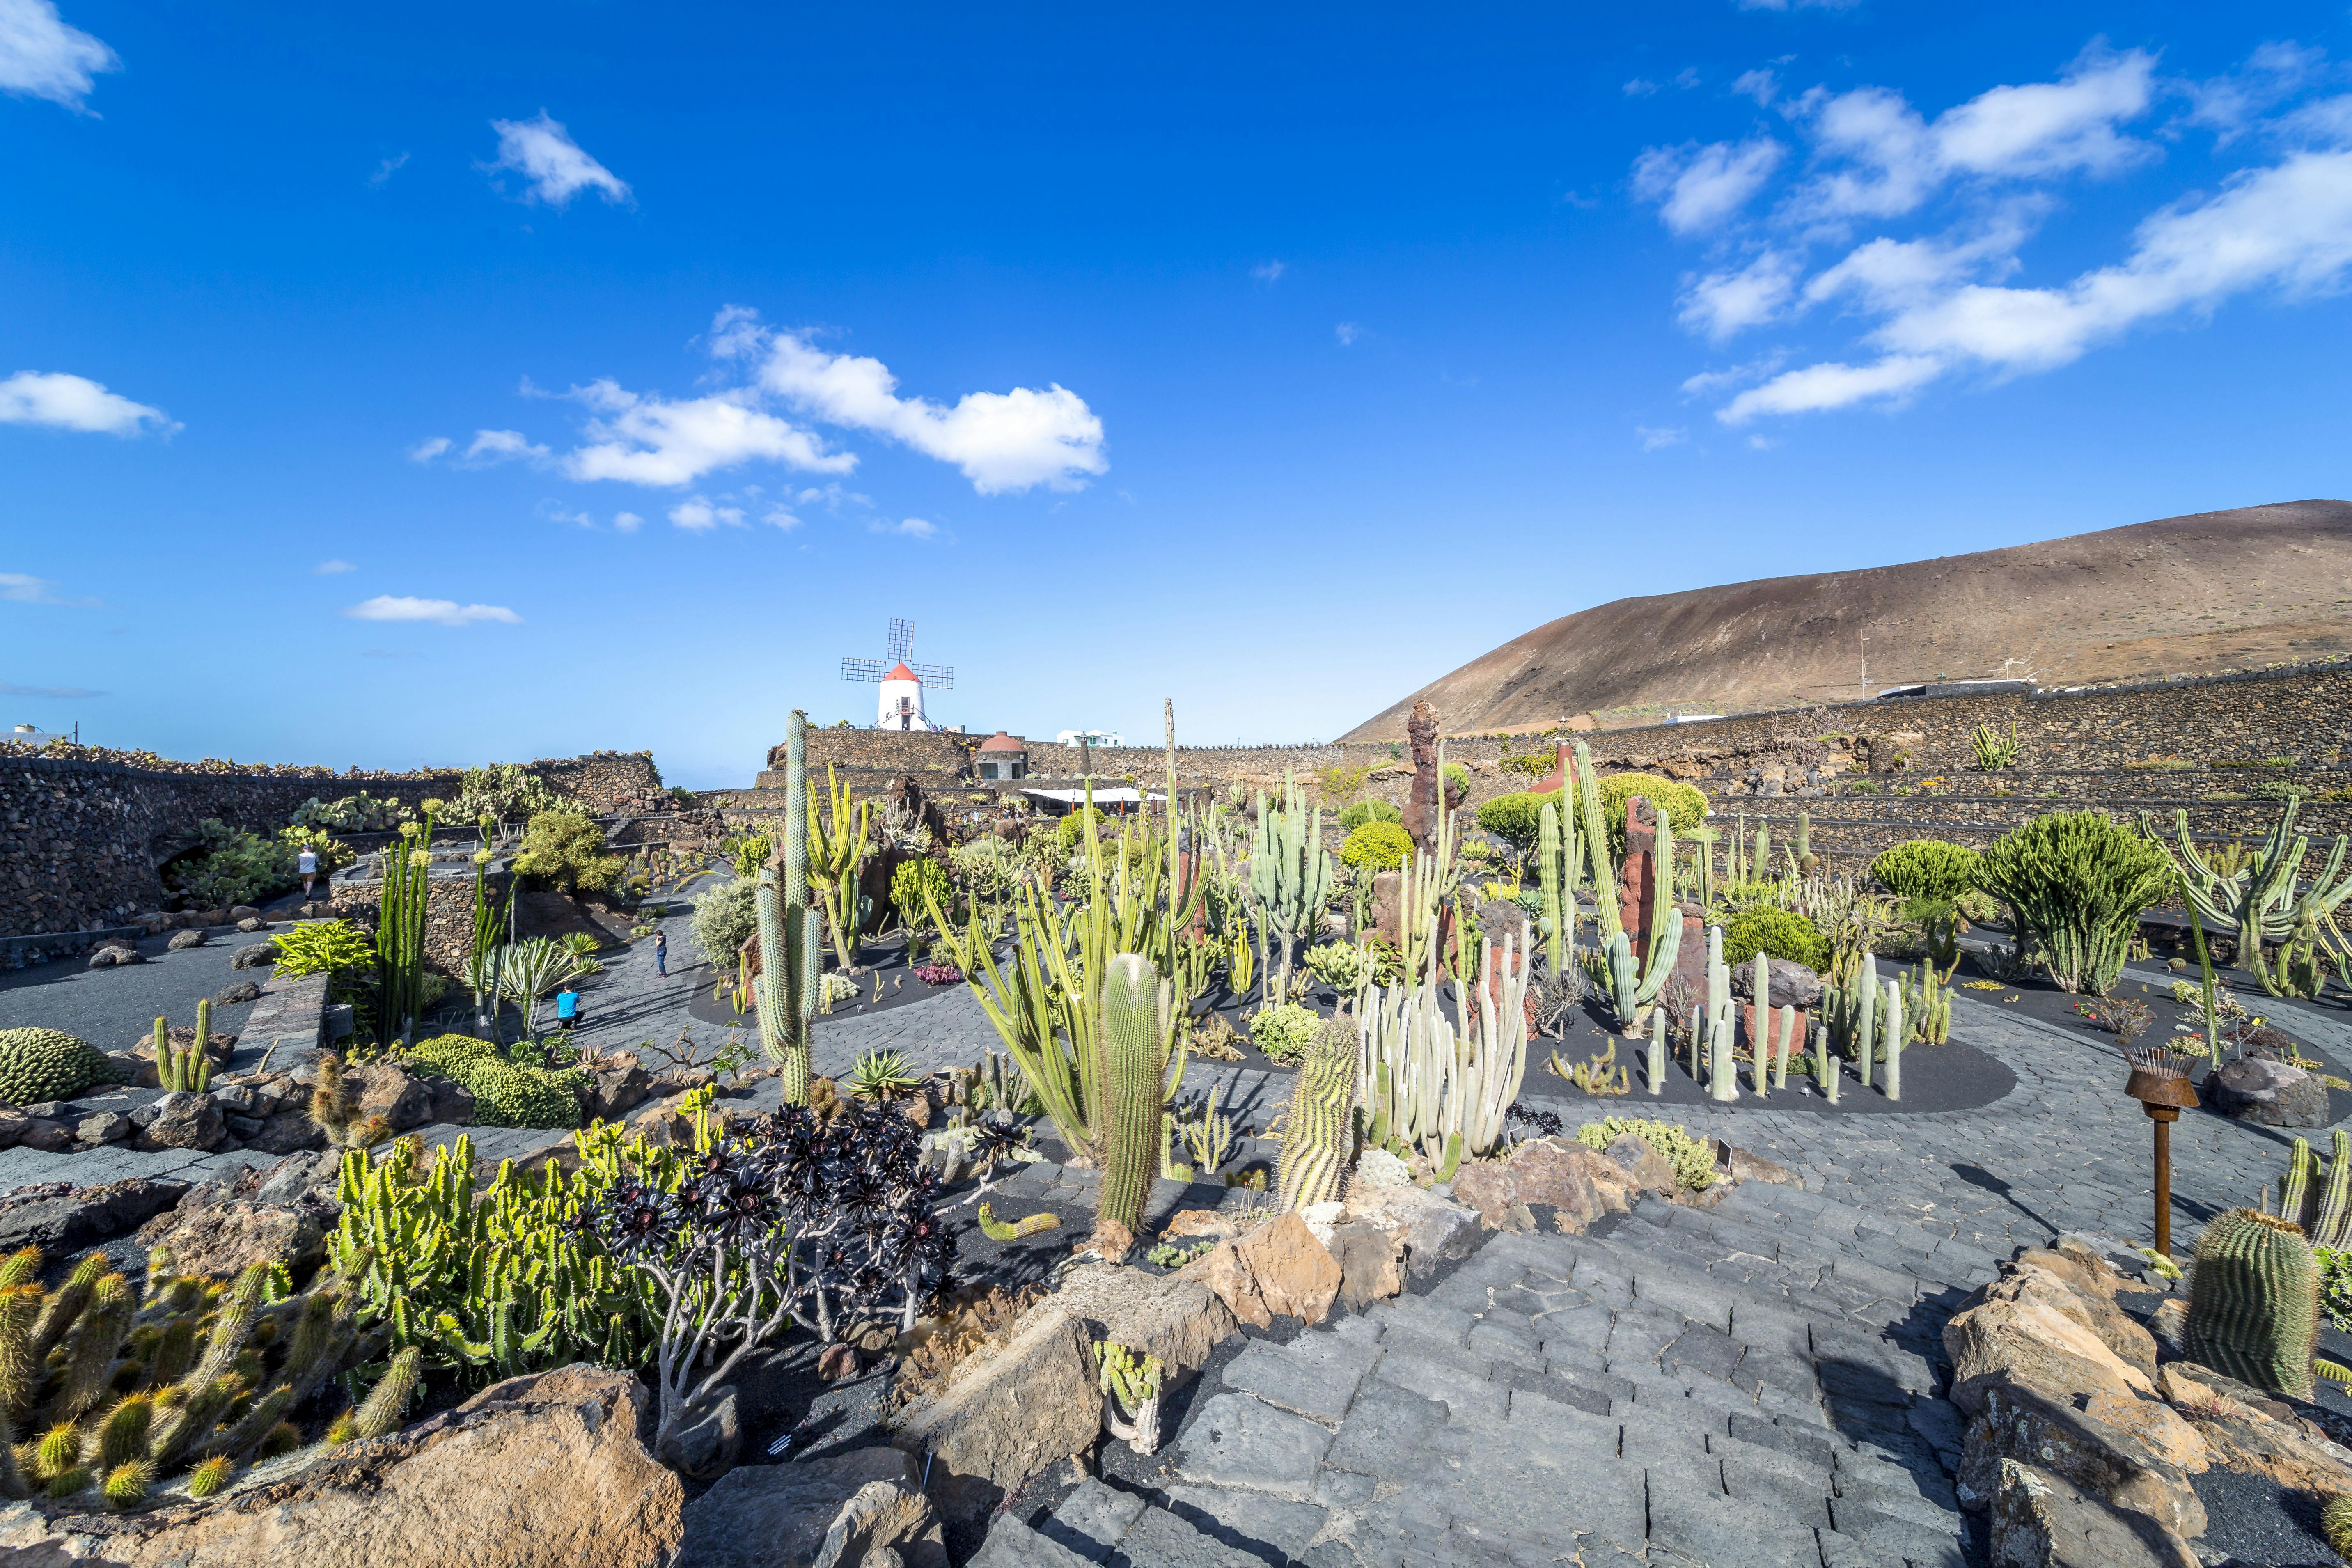
M 2343 496 L 2340 5 L 0 0 L 0 696 L 1303 741 L 1623 595 Z

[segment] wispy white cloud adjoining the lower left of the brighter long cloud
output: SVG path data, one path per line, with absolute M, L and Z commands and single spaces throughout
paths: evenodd
M 849 473 L 851 451 L 826 451 L 814 430 L 764 414 L 755 393 L 729 390 L 668 402 L 623 390 L 614 381 L 572 388 L 572 397 L 595 411 L 588 444 L 564 456 L 574 480 L 623 480 L 628 484 L 691 484 L 706 473 L 769 458 L 809 473 Z

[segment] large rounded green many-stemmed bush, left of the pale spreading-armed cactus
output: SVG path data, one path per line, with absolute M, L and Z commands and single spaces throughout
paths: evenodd
M 1985 853 L 1980 886 L 2018 912 L 2020 940 L 2042 943 L 2058 990 L 2105 997 L 2173 872 L 2164 851 L 2103 811 L 2053 811 Z

